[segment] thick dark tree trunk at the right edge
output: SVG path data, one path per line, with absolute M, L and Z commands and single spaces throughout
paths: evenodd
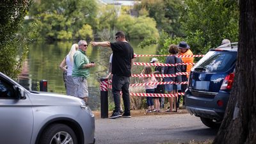
M 256 143 L 256 1 L 240 0 L 239 6 L 236 76 L 214 144 Z

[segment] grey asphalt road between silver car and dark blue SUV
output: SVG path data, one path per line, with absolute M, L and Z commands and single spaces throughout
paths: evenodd
M 188 143 L 213 140 L 218 131 L 200 118 L 187 114 L 145 115 L 132 118 L 99 118 L 95 121 L 96 143 Z

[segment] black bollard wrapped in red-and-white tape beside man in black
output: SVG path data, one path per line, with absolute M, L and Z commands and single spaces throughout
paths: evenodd
M 108 79 L 100 79 L 100 117 L 108 118 Z

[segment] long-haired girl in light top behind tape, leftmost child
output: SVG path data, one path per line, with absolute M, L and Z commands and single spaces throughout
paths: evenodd
M 141 74 L 152 74 L 152 69 L 150 66 L 145 66 L 142 70 Z M 142 79 L 143 83 L 156 83 L 155 77 L 140 77 Z M 154 93 L 155 86 L 154 85 L 146 85 L 145 86 L 146 93 Z M 152 113 L 154 111 L 154 102 L 152 97 L 146 97 L 147 98 L 147 106 L 148 110 L 147 113 Z

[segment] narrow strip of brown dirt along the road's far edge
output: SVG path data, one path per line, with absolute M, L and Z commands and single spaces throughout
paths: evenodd
M 173 115 L 173 114 L 183 114 L 188 113 L 186 109 L 177 109 L 177 112 L 165 112 L 162 109 L 161 113 L 146 113 L 147 109 L 131 110 L 131 116 L 147 116 L 147 115 Z M 108 112 L 108 116 L 111 116 L 113 111 Z M 95 118 L 100 118 L 100 111 L 93 111 Z

